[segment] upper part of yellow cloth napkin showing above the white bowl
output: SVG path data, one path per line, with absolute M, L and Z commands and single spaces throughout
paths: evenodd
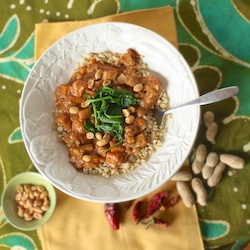
M 81 27 L 101 22 L 127 22 L 148 28 L 168 39 L 175 47 L 178 47 L 175 20 L 171 7 L 156 8 L 106 16 L 96 19 L 39 23 L 35 29 L 35 58 L 38 59 L 43 52 L 59 38 Z

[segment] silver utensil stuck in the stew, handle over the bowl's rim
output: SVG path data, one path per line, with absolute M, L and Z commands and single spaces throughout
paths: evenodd
M 210 103 L 219 102 L 219 101 L 225 100 L 227 98 L 230 98 L 236 95 L 238 92 L 239 92 L 239 88 L 236 86 L 214 90 L 212 92 L 209 92 L 207 94 L 204 94 L 198 97 L 197 99 L 193 101 L 184 103 L 175 108 L 168 109 L 167 111 L 163 111 L 157 106 L 155 106 L 155 108 L 153 109 L 153 116 L 155 117 L 156 122 L 160 125 L 162 123 L 162 120 L 167 114 L 173 113 L 176 110 L 189 107 L 189 106 L 197 106 L 197 105 L 202 106 L 202 105 L 206 105 Z

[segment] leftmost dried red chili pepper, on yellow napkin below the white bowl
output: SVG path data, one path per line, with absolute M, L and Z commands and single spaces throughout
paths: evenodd
M 120 205 L 118 203 L 105 203 L 104 212 L 112 228 L 118 230 L 120 225 Z

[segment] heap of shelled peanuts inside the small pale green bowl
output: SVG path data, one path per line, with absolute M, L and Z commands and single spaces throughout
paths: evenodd
M 48 191 L 41 185 L 18 185 L 15 196 L 17 214 L 25 221 L 41 219 L 49 209 Z

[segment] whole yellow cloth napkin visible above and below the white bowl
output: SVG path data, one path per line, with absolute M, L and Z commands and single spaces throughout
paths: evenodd
M 56 40 L 80 27 L 105 21 L 129 22 L 149 28 L 177 47 L 177 33 L 171 7 L 135 11 L 94 20 L 42 23 L 36 25 L 36 58 Z M 176 192 L 175 183 L 169 181 L 158 191 Z M 153 194 L 145 198 L 152 197 Z M 169 227 L 135 225 L 132 208 L 123 212 L 118 231 L 108 224 L 103 204 L 72 198 L 57 190 L 57 206 L 50 221 L 39 231 L 45 250 L 154 250 L 154 249 L 203 249 L 202 238 L 193 206 L 187 209 L 180 201 L 173 209 L 164 212 Z

